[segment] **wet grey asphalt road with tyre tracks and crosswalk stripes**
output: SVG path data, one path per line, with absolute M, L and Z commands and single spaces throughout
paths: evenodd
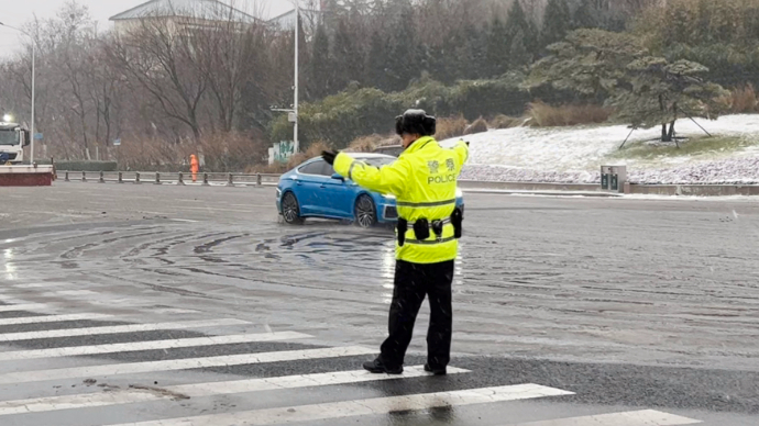
M 759 424 L 757 202 L 469 193 L 464 371 L 367 381 L 388 229 L 280 225 L 273 189 L 0 191 L 2 425 Z

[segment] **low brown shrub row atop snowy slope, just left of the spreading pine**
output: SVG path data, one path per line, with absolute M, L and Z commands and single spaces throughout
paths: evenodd
M 530 125 L 536 127 L 572 126 L 578 124 L 603 123 L 612 115 L 609 109 L 598 105 L 552 107 L 541 101 L 528 105 Z

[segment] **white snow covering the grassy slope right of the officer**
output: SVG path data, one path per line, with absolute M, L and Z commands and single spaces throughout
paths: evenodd
M 715 136 L 738 136 L 757 146 L 653 159 L 609 159 L 630 134 L 625 125 L 496 130 L 464 137 L 471 143 L 471 157 L 462 179 L 595 183 L 602 165 L 626 165 L 636 183 L 759 183 L 759 115 L 696 121 Z M 704 135 L 688 119 L 680 120 L 675 130 L 679 136 Z M 658 127 L 636 130 L 627 144 L 656 139 L 660 133 Z

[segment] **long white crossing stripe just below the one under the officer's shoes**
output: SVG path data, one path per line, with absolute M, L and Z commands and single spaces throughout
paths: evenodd
M 547 396 L 572 395 L 572 392 L 541 386 L 517 384 L 510 386 L 482 388 L 464 391 L 387 396 L 369 400 L 332 402 L 249 412 L 211 414 L 163 421 L 124 423 L 112 426 L 262 426 L 297 422 L 326 421 L 354 416 L 384 415 L 394 412 L 420 411 L 447 406 L 465 406 L 496 402 L 530 400 Z

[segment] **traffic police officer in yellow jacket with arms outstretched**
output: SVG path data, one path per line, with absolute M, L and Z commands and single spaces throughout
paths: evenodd
M 404 153 L 392 165 L 376 168 L 344 153 L 324 152 L 334 171 L 371 191 L 397 200 L 395 288 L 389 313 L 389 336 L 381 355 L 364 368 L 373 373 L 403 373 L 406 349 L 425 296 L 430 324 L 425 370 L 446 374 L 450 360 L 453 313 L 451 283 L 459 250 L 463 212 L 457 208 L 457 181 L 469 158 L 469 144 L 442 148 L 432 137 L 436 119 L 421 110 L 396 117 Z

